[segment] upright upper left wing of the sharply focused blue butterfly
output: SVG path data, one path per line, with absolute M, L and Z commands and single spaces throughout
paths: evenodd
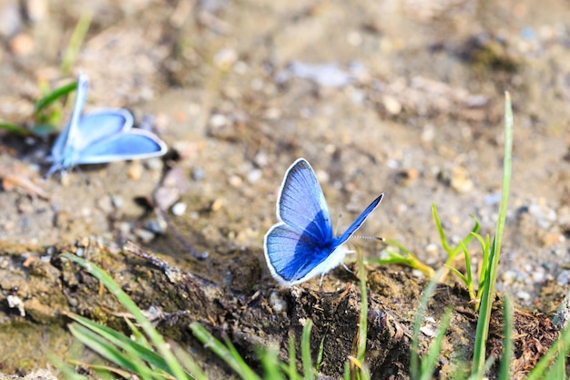
M 332 240 L 331 215 L 315 172 L 297 159 L 285 174 L 277 202 L 277 218 L 315 243 Z

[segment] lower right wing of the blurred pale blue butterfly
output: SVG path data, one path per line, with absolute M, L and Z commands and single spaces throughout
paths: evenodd
M 98 164 L 123 159 L 148 159 L 162 156 L 167 152 L 167 145 L 156 135 L 142 129 L 98 139 L 82 149 L 76 164 Z

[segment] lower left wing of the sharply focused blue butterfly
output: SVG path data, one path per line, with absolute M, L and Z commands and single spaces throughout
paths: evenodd
M 316 244 L 312 236 L 284 223 L 270 228 L 263 248 L 271 274 L 283 285 L 308 280 L 310 271 L 324 262 L 332 251 L 330 245 Z

